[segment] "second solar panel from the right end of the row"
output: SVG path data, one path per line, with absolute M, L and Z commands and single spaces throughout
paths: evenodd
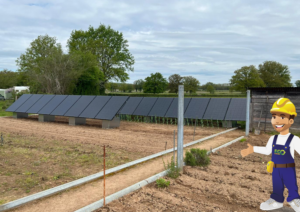
M 211 98 L 203 119 L 224 120 L 231 98 Z

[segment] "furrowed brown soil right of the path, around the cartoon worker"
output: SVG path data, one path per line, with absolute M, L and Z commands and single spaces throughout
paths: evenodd
M 270 198 L 272 176 L 266 171 L 271 155 L 253 153 L 245 158 L 240 151 L 247 143 L 265 146 L 270 134 L 250 134 L 246 142 L 236 142 L 210 156 L 207 168 L 186 166 L 170 186 L 159 189 L 155 183 L 145 186 L 118 200 L 111 202 L 98 212 L 133 211 L 205 211 L 205 212 L 250 212 L 261 211 L 259 206 Z M 295 153 L 298 187 L 300 186 L 300 157 Z M 284 196 L 288 196 L 285 189 Z M 292 212 L 284 202 L 284 208 L 273 211 Z

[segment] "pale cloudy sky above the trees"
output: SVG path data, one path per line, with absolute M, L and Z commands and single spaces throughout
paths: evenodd
M 0 0 L 0 70 L 39 35 L 65 47 L 72 30 L 110 25 L 135 58 L 130 80 L 161 72 L 228 83 L 236 69 L 273 60 L 300 79 L 299 0 Z

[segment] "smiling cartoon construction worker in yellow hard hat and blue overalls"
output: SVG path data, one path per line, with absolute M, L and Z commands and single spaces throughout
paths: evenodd
M 294 150 L 300 154 L 300 139 L 289 133 L 289 128 L 297 116 L 295 105 L 287 98 L 278 99 L 271 109 L 272 126 L 279 135 L 271 136 L 266 147 L 251 146 L 241 151 L 243 157 L 255 152 L 264 155 L 272 153 L 272 161 L 268 163 L 272 172 L 273 193 L 266 202 L 260 204 L 261 210 L 274 210 L 283 207 L 284 185 L 289 191 L 287 202 L 300 212 L 300 196 L 294 162 Z M 273 167 L 273 168 L 272 168 Z M 270 168 L 270 167 L 268 167 Z

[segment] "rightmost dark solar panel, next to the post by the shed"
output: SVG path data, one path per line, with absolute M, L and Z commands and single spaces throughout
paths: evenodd
M 232 98 L 226 113 L 225 120 L 246 121 L 246 105 L 245 98 Z

